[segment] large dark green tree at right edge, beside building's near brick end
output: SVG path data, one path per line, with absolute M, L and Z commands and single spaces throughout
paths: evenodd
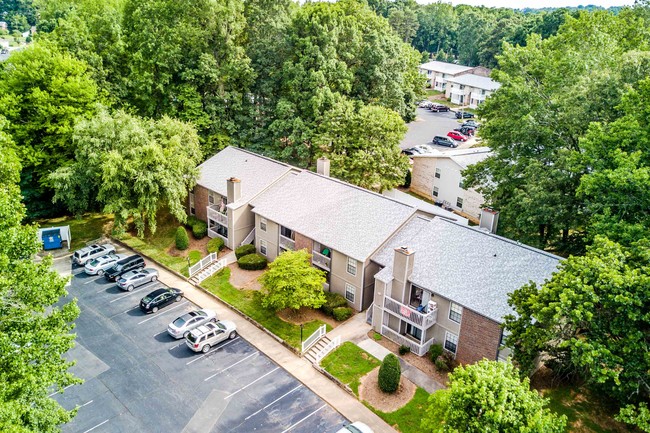
M 516 290 L 507 346 L 529 372 L 544 354 L 556 374 L 579 378 L 619 405 L 650 396 L 650 241 L 603 237 L 570 257 L 542 287 Z

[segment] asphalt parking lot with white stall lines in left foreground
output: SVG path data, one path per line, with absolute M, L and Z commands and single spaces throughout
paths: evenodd
M 79 408 L 64 432 L 315 433 L 348 422 L 240 336 L 207 354 L 171 338 L 167 324 L 197 306 L 183 299 L 145 315 L 138 303 L 161 282 L 124 292 L 82 267 L 72 275 L 81 314 L 68 357 L 85 383 L 52 395 Z

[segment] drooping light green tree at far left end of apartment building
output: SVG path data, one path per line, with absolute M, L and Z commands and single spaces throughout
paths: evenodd
M 75 162 L 50 176 L 55 200 L 70 211 L 101 205 L 115 214 L 117 231 L 133 217 L 140 237 L 147 226 L 156 231 L 156 213 L 163 206 L 185 221 L 183 202 L 201 160 L 194 127 L 168 117 L 147 120 L 102 109 L 77 125 L 73 140 Z

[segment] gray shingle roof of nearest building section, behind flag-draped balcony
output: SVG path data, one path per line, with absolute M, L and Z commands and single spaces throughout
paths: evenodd
M 392 277 L 395 248 L 415 252 L 409 280 L 497 322 L 512 313 L 508 294 L 529 281 L 543 283 L 560 257 L 441 218 L 414 218 L 372 257 Z

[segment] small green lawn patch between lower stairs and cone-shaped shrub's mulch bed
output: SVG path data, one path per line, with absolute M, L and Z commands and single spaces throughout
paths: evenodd
M 327 355 L 320 365 L 359 395 L 359 380 L 379 367 L 379 360 L 354 343 L 346 341 Z

